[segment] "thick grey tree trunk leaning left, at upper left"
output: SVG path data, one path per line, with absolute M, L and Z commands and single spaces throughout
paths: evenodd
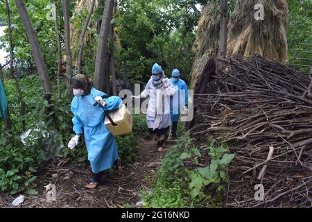
M 21 21 L 24 24 L 29 44 L 31 45 L 31 51 L 33 52 L 33 58 L 37 66 L 37 71 L 40 74 L 42 85 L 44 87 L 44 91 L 46 92 L 44 97 L 46 98 L 46 100 L 49 101 L 51 99 L 52 87 L 51 87 L 48 73 L 46 71 L 46 65 L 44 63 L 44 59 L 40 50 L 40 46 L 37 40 L 37 34 L 35 33 L 35 30 L 33 29 L 33 24 L 26 10 L 24 1 L 15 0 L 15 3 L 17 6 L 17 10 L 19 11 L 19 15 L 21 16 Z

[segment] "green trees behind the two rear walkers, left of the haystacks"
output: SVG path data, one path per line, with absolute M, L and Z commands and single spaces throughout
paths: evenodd
M 122 0 L 120 17 L 116 17 L 121 51 L 116 56 L 117 70 L 126 61 L 130 80 L 146 81 L 154 62 L 170 76 L 173 68 L 187 78 L 193 60 L 191 46 L 200 12 L 197 3 L 207 1 Z M 137 33 L 140 33 L 137 35 Z

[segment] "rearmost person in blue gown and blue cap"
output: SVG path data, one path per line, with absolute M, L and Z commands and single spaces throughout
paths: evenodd
M 187 112 L 189 91 L 187 89 L 187 83 L 180 78 L 180 71 L 173 69 L 172 78 L 170 82 L 175 87 L 176 94 L 170 97 L 170 113 L 171 113 L 171 138 L 177 138 L 177 121 L 180 117 L 180 112 Z

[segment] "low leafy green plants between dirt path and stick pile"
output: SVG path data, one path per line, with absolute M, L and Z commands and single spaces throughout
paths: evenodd
M 202 156 L 193 144 L 193 139 L 184 134 L 177 139 L 164 157 L 162 167 L 151 182 L 152 192 L 143 192 L 147 207 L 220 207 L 223 201 L 224 185 L 228 182 L 227 164 L 234 154 L 228 153 L 224 144 L 216 147 L 209 144 L 211 162 L 207 167 L 184 169 L 185 160 L 198 165 Z M 215 194 L 207 192 L 207 186 L 214 186 Z

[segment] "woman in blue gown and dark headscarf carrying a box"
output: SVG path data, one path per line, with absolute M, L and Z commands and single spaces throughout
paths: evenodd
M 106 94 L 92 87 L 91 80 L 83 74 L 73 76 L 71 85 L 74 95 L 71 112 L 76 136 L 71 138 L 68 147 L 72 149 L 77 146 L 79 138 L 84 135 L 93 173 L 93 180 L 85 187 L 94 189 L 100 184 L 104 171 L 111 169 L 113 164 L 121 171 L 116 139 L 104 125 L 104 110 L 116 110 L 122 105 L 122 101 L 117 96 L 103 99 Z M 95 102 L 98 105 L 94 106 Z

